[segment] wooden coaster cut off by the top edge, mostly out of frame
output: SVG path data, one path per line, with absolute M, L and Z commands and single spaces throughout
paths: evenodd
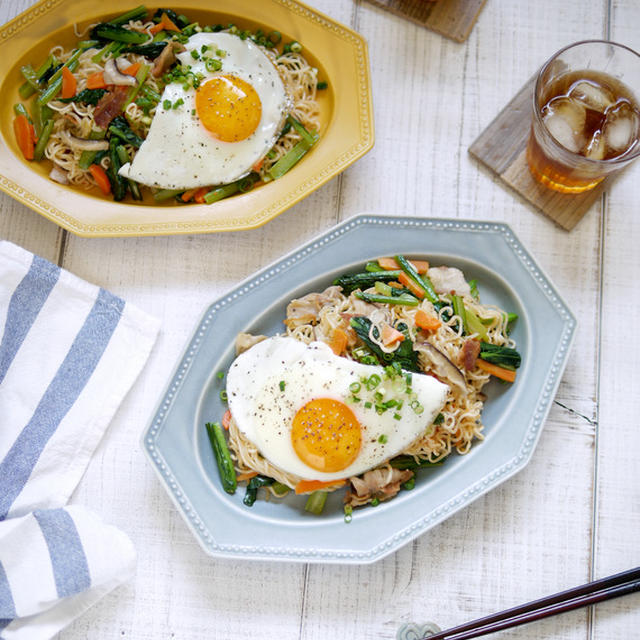
M 464 42 L 487 0 L 368 0 L 432 31 Z

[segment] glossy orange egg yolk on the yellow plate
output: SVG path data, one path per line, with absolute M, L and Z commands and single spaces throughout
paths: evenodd
M 216 76 L 196 91 L 196 111 L 203 126 L 224 142 L 248 138 L 262 117 L 256 90 L 242 78 Z

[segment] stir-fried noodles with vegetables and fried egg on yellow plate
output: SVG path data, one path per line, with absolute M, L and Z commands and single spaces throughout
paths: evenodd
M 52 180 L 211 204 L 281 177 L 318 140 L 327 84 L 278 31 L 141 6 L 76 35 L 21 68 L 14 106 L 18 147 Z

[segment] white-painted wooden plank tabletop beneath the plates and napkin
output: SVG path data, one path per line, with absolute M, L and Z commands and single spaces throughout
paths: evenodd
M 2 0 L 0 23 L 30 4 Z M 640 3 L 489 0 L 464 44 L 364 0 L 312 4 L 368 39 L 376 144 L 263 228 L 82 239 L 0 194 L 2 238 L 162 319 L 143 375 L 73 496 L 131 536 L 137 575 L 63 640 L 394 638 L 403 622 L 444 628 L 640 565 L 640 163 L 567 233 L 467 154 L 563 45 L 610 38 L 640 50 Z M 373 565 L 209 558 L 143 457 L 141 431 L 205 305 L 361 211 L 504 221 L 550 274 L 579 327 L 533 459 Z M 633 595 L 501 637 L 629 640 L 638 629 L 640 595 Z

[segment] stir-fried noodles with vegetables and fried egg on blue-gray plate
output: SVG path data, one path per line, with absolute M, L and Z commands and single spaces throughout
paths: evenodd
M 380 258 L 290 301 L 281 335 L 241 333 L 228 411 L 206 425 L 225 490 L 246 481 L 249 506 L 261 487 L 293 491 L 312 513 L 342 490 L 349 520 L 467 453 L 483 439 L 483 388 L 513 383 L 521 362 L 515 314 L 479 288 L 455 267 Z

